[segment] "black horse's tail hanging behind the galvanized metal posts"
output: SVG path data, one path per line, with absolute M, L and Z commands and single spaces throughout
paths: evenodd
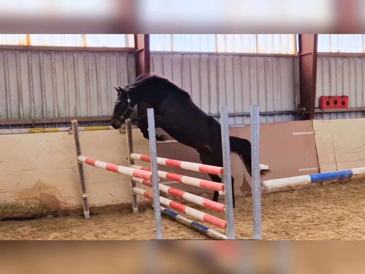
M 245 165 L 247 172 L 251 176 L 251 143 L 247 139 L 238 138 L 234 136 L 229 137 L 230 140 L 230 147 L 231 152 L 238 155 L 243 164 Z M 264 175 L 268 172 L 271 172 L 270 170 L 260 170 L 260 174 Z

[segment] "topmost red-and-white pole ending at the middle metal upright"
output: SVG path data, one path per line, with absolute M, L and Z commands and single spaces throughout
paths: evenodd
M 133 160 L 141 160 L 145 162 L 151 162 L 151 156 L 132 153 L 130 158 Z M 186 161 L 179 161 L 179 160 L 172 160 L 162 157 L 157 157 L 157 163 L 161 165 L 168 165 L 171 167 L 178 167 L 183 168 L 184 170 L 192 170 L 198 172 L 204 172 L 214 175 L 223 175 L 224 168 L 223 167 L 216 167 L 214 165 L 205 165 L 205 164 L 198 164 L 198 163 L 191 163 Z

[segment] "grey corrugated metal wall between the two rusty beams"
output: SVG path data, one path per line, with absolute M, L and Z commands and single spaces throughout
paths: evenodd
M 188 91 L 205 113 L 295 110 L 294 57 L 152 53 L 151 71 Z M 288 116 L 289 118 L 285 117 Z M 267 122 L 288 121 L 293 115 L 273 115 Z M 249 117 L 230 118 L 242 124 Z

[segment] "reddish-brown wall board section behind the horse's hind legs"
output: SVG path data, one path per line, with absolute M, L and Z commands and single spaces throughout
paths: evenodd
M 230 128 L 230 136 L 246 138 L 251 141 L 250 125 Z M 201 163 L 199 154 L 194 149 L 176 142 L 158 144 L 158 155 Z M 260 124 L 260 163 L 269 165 L 271 170 L 269 174 L 262 175 L 261 180 L 318 173 L 319 166 L 312 122 L 293 121 Z M 165 167 L 160 169 L 166 170 Z M 166 171 L 179 172 L 177 169 Z M 193 171 L 183 172 L 187 176 L 210 180 L 210 177 L 206 174 L 192 173 Z M 251 177 L 239 156 L 234 153 L 231 153 L 231 172 L 234 177 L 236 196 L 246 195 L 247 190 L 250 190 Z M 178 186 L 180 187 L 180 185 Z M 182 187 L 185 191 L 196 191 L 196 189 L 191 189 L 190 186 L 185 185 Z M 206 197 L 212 197 L 210 191 L 201 192 L 204 192 L 203 194 Z

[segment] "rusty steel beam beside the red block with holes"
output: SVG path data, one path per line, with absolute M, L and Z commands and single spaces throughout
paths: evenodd
M 299 34 L 299 85 L 302 119 L 314 119 L 318 34 Z

